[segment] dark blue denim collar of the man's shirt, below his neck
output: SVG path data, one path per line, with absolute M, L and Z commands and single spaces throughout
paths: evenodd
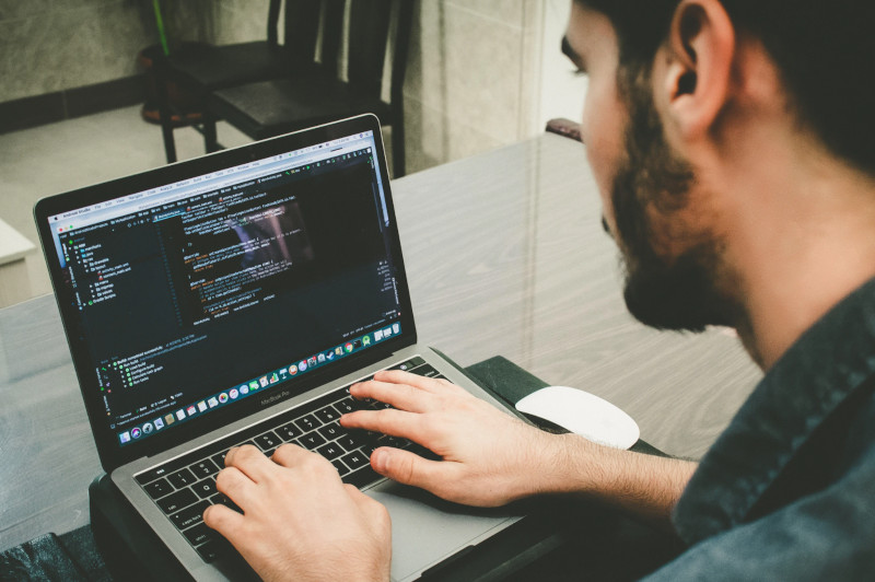
M 673 514 L 693 544 L 740 523 L 814 430 L 875 373 L 875 279 L 806 330 L 702 458 Z

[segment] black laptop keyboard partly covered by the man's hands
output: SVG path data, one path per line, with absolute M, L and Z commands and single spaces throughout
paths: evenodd
M 387 370 L 407 370 L 423 376 L 443 377 L 418 356 Z M 405 439 L 349 430 L 338 422 L 340 416 L 347 412 L 378 408 L 389 406 L 373 400 L 355 400 L 349 394 L 349 386 L 343 386 L 141 473 L 135 479 L 200 557 L 205 561 L 213 561 L 220 555 L 233 551 L 233 548 L 221 535 L 207 527 L 202 520 L 203 510 L 214 503 L 240 510 L 215 489 L 215 475 L 225 466 L 225 454 L 231 447 L 252 444 L 270 456 L 282 444 L 298 444 L 323 455 L 331 462 L 343 482 L 361 489 L 383 478 L 371 468 L 370 458 L 374 449 L 395 446 L 430 455 Z

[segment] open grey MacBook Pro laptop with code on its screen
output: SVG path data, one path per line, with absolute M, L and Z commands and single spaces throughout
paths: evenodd
M 380 123 L 353 117 L 45 198 L 34 210 L 103 468 L 196 580 L 252 575 L 201 521 L 234 445 L 296 443 L 384 503 L 393 580 L 521 519 L 381 478 L 350 384 L 446 377 L 417 337 Z

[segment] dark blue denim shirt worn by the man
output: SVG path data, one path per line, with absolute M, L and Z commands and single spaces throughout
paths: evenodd
M 692 476 L 648 580 L 875 580 L 875 279 L 766 374 Z

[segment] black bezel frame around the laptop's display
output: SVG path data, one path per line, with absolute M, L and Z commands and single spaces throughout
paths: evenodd
M 400 324 L 402 333 L 400 336 L 393 337 L 380 345 L 355 352 L 351 354 L 351 357 L 345 358 L 330 366 L 314 371 L 312 374 L 300 376 L 294 381 L 277 384 L 271 388 L 270 393 L 266 394 L 272 393 L 279 395 L 285 392 L 289 394 L 288 396 L 270 401 L 268 405 L 261 404 L 265 398 L 246 398 L 236 403 L 235 406 L 230 406 L 224 409 L 219 408 L 210 415 L 191 419 L 172 431 L 154 434 L 140 442 L 121 446 L 118 442 L 116 431 L 109 429 L 105 421 L 106 417 L 103 410 L 103 401 L 100 398 L 100 389 L 88 350 L 71 336 L 74 329 L 72 318 L 78 318 L 79 315 L 74 306 L 74 298 L 71 290 L 62 283 L 62 269 L 55 248 L 52 228 L 48 220 L 49 217 L 369 130 L 373 131 L 374 136 L 376 160 L 378 162 L 380 176 L 389 218 L 388 231 L 390 248 L 394 266 L 396 268 L 396 286 L 400 302 L 399 309 L 401 311 Z M 359 368 L 388 358 L 392 353 L 416 344 L 417 340 L 410 293 L 407 286 L 398 226 L 395 218 L 395 206 L 386 167 L 383 137 L 381 135 L 378 119 L 370 114 L 287 133 L 277 138 L 215 152 L 194 160 L 177 162 L 141 174 L 43 198 L 34 207 L 34 219 L 36 220 L 43 253 L 55 290 L 55 299 L 61 315 L 61 322 L 72 356 L 79 387 L 85 404 L 85 410 L 92 427 L 94 441 L 97 446 L 97 453 L 101 458 L 101 464 L 107 473 L 136 458 L 154 455 L 202 434 L 207 434 L 234 420 L 255 414 L 267 406 L 276 406 L 278 403 L 304 394 L 324 383 L 351 373 Z M 292 385 L 295 386 L 295 389 L 289 391 L 288 388 Z

